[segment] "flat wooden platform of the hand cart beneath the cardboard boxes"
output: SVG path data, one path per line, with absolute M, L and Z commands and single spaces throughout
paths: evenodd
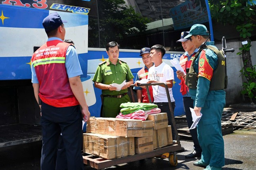
M 86 155 L 86 156 L 83 156 L 83 161 L 84 161 L 84 164 L 87 164 L 92 168 L 104 169 L 111 166 L 115 166 L 117 164 L 139 161 L 141 159 L 156 157 L 157 155 L 162 155 L 163 153 L 179 151 L 180 149 L 181 149 L 181 144 L 174 144 L 174 145 L 168 145 L 162 148 L 154 149 L 153 151 L 135 154 L 135 155 L 122 157 L 118 159 L 111 159 L 111 160 L 95 157 L 92 155 Z

